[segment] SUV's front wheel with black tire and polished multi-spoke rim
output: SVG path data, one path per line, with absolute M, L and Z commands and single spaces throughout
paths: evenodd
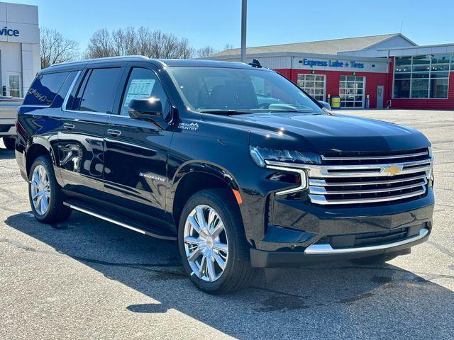
M 184 271 L 206 293 L 245 288 L 253 278 L 238 205 L 227 189 L 199 191 L 182 210 L 178 245 Z

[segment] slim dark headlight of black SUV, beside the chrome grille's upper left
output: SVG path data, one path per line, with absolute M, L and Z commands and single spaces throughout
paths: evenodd
M 321 164 L 319 154 L 314 152 L 299 152 L 290 150 L 265 149 L 263 147 L 250 147 L 250 157 L 258 165 L 265 167 L 267 162 L 282 162 L 292 164 Z

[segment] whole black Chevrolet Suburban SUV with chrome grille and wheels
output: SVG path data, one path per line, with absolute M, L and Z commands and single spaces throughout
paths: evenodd
M 260 64 L 116 57 L 39 72 L 16 159 L 45 223 L 72 210 L 177 240 L 209 293 L 255 268 L 409 254 L 431 232 L 421 132 L 332 113 Z

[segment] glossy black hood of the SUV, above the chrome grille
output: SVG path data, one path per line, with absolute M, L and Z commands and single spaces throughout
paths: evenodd
M 304 152 L 394 151 L 430 146 L 419 131 L 351 115 L 260 113 L 231 117 L 249 125 L 250 145 Z

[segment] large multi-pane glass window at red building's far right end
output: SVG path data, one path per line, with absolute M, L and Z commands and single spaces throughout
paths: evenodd
M 448 98 L 450 55 L 396 57 L 393 98 Z

